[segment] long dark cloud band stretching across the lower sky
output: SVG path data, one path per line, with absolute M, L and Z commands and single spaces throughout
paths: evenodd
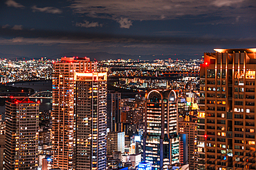
M 247 39 L 224 39 L 214 38 L 214 36 L 191 37 L 171 37 L 171 36 L 120 36 L 114 34 L 92 34 L 84 32 L 60 32 L 45 30 L 11 30 L 0 28 L 0 36 L 12 36 L 12 39 L 4 39 L 2 42 L 12 43 L 122 43 L 126 47 L 140 44 L 146 45 L 248 45 L 253 44 L 256 38 Z M 150 46 L 152 47 L 152 46 Z

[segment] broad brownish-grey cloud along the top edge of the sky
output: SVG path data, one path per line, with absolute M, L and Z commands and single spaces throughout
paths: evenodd
M 244 6 L 253 5 L 250 0 L 74 0 L 71 8 L 80 14 L 90 14 L 95 18 L 129 20 L 175 19 L 181 16 L 201 14 L 232 17 Z M 230 8 L 232 7 L 232 8 Z M 247 11 L 240 11 L 246 13 Z M 91 15 L 93 14 L 93 16 Z

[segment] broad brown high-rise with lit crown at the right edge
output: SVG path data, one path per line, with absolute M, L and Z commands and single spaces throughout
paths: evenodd
M 215 51 L 200 71 L 205 169 L 255 169 L 256 49 Z

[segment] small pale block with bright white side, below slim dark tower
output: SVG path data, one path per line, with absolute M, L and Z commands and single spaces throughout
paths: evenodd
M 112 155 L 113 151 L 125 153 L 125 131 L 107 133 L 107 154 Z

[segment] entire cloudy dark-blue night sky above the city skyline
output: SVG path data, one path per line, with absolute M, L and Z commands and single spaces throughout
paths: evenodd
M 0 57 L 256 47 L 255 0 L 2 0 Z M 145 57 L 144 57 L 145 59 Z

